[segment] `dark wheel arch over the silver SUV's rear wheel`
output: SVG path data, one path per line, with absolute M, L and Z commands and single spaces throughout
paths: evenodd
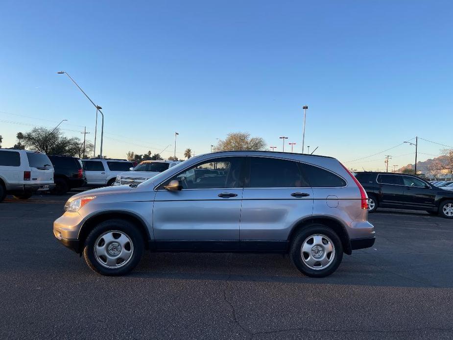
M 329 217 L 329 216 L 310 216 L 308 218 L 298 221 L 292 227 L 291 232 L 289 233 L 288 244 L 291 244 L 297 231 L 299 231 L 305 227 L 308 227 L 314 223 L 323 224 L 323 225 L 331 228 L 332 230 L 334 230 L 334 232 L 338 235 L 338 237 L 341 240 L 341 243 L 343 245 L 343 251 L 348 255 L 352 254 L 351 241 L 349 239 L 348 232 L 346 231 L 346 227 L 338 219 L 335 219 L 335 218 Z

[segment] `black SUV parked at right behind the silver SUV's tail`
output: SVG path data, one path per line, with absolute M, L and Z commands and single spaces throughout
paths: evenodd
M 381 208 L 426 210 L 431 215 L 453 219 L 453 192 L 424 179 L 395 172 L 357 172 L 356 178 L 368 195 L 370 212 Z

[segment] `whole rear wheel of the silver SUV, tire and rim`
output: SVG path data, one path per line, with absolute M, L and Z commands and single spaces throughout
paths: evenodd
M 303 274 L 324 277 L 332 274 L 343 259 L 343 246 L 338 235 L 323 224 L 311 224 L 297 232 L 289 257 Z

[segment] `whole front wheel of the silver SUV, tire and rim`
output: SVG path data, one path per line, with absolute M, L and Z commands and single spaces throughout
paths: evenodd
M 140 262 L 143 237 L 138 228 L 123 219 L 99 223 L 88 235 L 83 257 L 92 270 L 108 275 L 127 274 Z

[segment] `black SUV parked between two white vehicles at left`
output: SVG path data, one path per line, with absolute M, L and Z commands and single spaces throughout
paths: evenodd
M 53 194 L 63 195 L 73 188 L 80 188 L 86 184 L 80 158 L 71 156 L 49 155 L 54 169 L 55 188 Z

